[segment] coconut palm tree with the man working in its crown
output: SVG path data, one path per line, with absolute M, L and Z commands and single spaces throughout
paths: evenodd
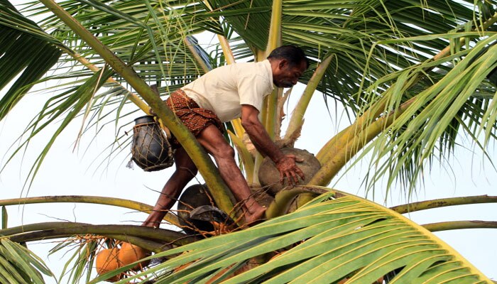
M 490 283 L 430 231 L 398 213 L 405 209 L 395 208 L 395 212 L 324 186 L 344 165 L 367 157 L 371 171 L 364 178 L 368 188 L 386 178 L 387 187 L 400 182 L 410 195 L 432 160 L 453 153 L 459 133 L 486 153 L 496 137 L 495 8 L 496 1 L 40 0 L 19 13 L 9 1 L 0 0 L 0 87 L 15 80 L 0 100 L 0 119 L 34 85 L 62 82 L 12 153 L 17 155 L 40 131 L 62 121 L 33 163 L 28 185 L 55 139 L 76 117 L 84 119 L 80 133 L 84 135 L 102 124 L 131 121 L 131 116 L 151 108 L 190 154 L 207 186 L 217 189 L 210 192 L 217 207 L 236 217 L 229 190 L 214 164 L 162 100 L 213 67 L 263 60 L 283 44 L 302 46 L 311 64 L 301 78 L 306 88 L 299 94 L 285 135 L 280 134 L 281 106 L 288 94 L 277 89 L 266 100 L 263 124 L 272 138 L 281 146 L 293 146 L 316 91 L 342 103 L 352 121 L 317 153 L 321 168 L 307 185 L 275 195 L 266 214 L 268 221 L 262 224 L 198 241 L 176 231 L 139 226 L 127 226 L 123 234 L 122 226 L 50 223 L 6 228 L 4 222 L 1 280 L 42 283 L 40 273 L 50 275 L 38 258 L 18 244 L 61 237 L 74 241 L 74 236 L 92 234 L 129 241 L 155 251 L 150 258 L 160 258 L 155 266 L 129 275 L 123 283 L 133 279 L 156 283 Z M 195 34 L 205 31 L 219 39 L 208 50 L 195 40 Z M 47 75 L 49 70 L 56 72 Z M 158 85 L 158 92 L 152 84 Z M 249 153 L 239 121 L 226 127 L 247 180 L 257 184 L 261 155 Z M 119 134 L 108 155 L 119 155 L 129 143 L 127 136 Z M 150 210 L 136 202 L 91 197 L 21 202 L 92 202 Z M 415 208 L 412 204 L 407 211 Z M 5 212 L 3 216 L 6 219 Z M 178 223 L 172 214 L 166 219 Z M 477 225 L 452 224 L 461 226 Z M 440 226 L 428 229 L 436 231 Z M 97 246 L 115 245 L 109 239 L 92 237 L 82 244 L 71 267 L 74 281 L 84 275 L 85 267 L 92 266 Z M 17 262 L 17 258 L 24 261 Z M 119 275 L 131 266 L 92 282 Z M 86 279 L 91 279 L 89 273 Z

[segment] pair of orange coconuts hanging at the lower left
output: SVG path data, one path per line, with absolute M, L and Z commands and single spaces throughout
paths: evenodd
M 97 254 L 96 258 L 96 269 L 99 275 L 107 273 L 109 271 L 114 271 L 117 268 L 127 266 L 131 263 L 135 263 L 142 258 L 150 255 L 150 251 L 146 251 L 139 246 L 135 246 L 129 243 L 121 243 L 121 248 L 118 246 L 111 249 L 104 249 Z M 141 270 L 143 267 L 148 265 L 148 261 L 141 261 L 130 268 L 132 271 Z M 121 280 L 123 274 L 115 275 L 107 279 L 109 282 L 115 282 Z

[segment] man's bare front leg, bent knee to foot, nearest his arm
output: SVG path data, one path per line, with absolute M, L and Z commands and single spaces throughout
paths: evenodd
M 261 219 L 266 212 L 266 207 L 252 197 L 249 185 L 234 159 L 234 149 L 224 140 L 221 131 L 214 125 L 207 126 L 197 136 L 197 140 L 216 160 L 221 178 L 226 182 L 236 200 L 243 202 L 245 222 L 250 224 Z

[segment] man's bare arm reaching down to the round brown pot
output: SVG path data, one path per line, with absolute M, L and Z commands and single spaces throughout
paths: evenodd
M 283 182 L 283 178 L 288 178 L 289 183 L 297 183 L 297 176 L 303 180 L 305 176 L 295 164 L 295 155 L 285 155 L 280 151 L 280 148 L 269 138 L 268 132 L 258 119 L 258 114 L 259 111 L 255 107 L 249 104 L 241 105 L 241 125 L 249 134 L 253 146 L 261 154 L 267 155 L 273 160 L 276 168 L 280 171 L 281 182 Z

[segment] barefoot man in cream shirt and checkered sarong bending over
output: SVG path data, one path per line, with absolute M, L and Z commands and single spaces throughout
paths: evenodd
M 276 48 L 262 62 L 244 62 L 218 67 L 178 89 L 165 101 L 214 157 L 222 179 L 241 202 L 246 224 L 263 217 L 266 208 L 251 196 L 249 185 L 234 159 L 234 149 L 223 136 L 222 123 L 241 118 L 241 125 L 262 155 L 274 161 L 280 180 L 297 183 L 304 179 L 295 164 L 295 155 L 284 155 L 259 120 L 263 99 L 276 87 L 292 87 L 309 67 L 302 49 L 293 45 Z M 178 141 L 172 137 L 176 169 L 158 198 L 144 226 L 158 227 L 183 188 L 197 174 L 197 167 Z M 215 190 L 215 189 L 214 189 Z

